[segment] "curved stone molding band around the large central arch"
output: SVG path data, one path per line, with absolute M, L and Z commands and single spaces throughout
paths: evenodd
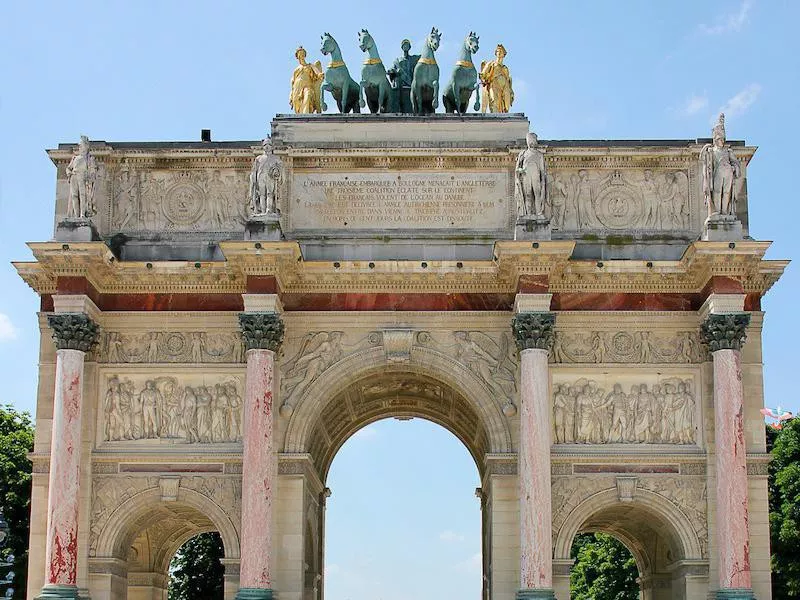
M 392 364 L 387 360 L 383 346 L 375 346 L 344 357 L 306 388 L 289 421 L 284 452 L 308 451 L 317 417 L 325 405 L 350 384 L 389 372 L 426 375 L 453 388 L 472 404 L 481 417 L 489 438 L 489 451 L 511 451 L 511 432 L 501 411 L 502 399 L 494 398 L 486 384 L 465 365 L 434 349 L 420 346 L 411 349 L 407 363 Z

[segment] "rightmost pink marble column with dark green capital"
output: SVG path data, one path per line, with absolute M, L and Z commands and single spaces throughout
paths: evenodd
M 749 313 L 710 314 L 703 341 L 714 360 L 718 599 L 755 598 L 750 581 L 747 456 L 741 348 Z

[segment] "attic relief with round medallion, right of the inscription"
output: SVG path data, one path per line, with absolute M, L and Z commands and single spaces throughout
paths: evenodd
M 548 175 L 553 230 L 689 231 L 686 170 L 558 169 Z

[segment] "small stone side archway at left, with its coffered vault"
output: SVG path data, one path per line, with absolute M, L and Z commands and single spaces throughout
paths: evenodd
M 239 534 L 228 512 L 208 496 L 178 488 L 165 499 L 162 488 L 150 488 L 121 502 L 99 532 L 90 559 L 90 591 L 110 600 L 166 598 L 169 564 L 177 550 L 200 533 L 222 538 L 226 565 L 238 563 Z M 238 579 L 228 581 L 233 598 Z

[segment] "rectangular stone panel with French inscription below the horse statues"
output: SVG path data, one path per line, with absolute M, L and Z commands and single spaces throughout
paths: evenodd
M 492 231 L 510 225 L 512 198 L 513 180 L 507 171 L 295 171 L 289 226 Z

